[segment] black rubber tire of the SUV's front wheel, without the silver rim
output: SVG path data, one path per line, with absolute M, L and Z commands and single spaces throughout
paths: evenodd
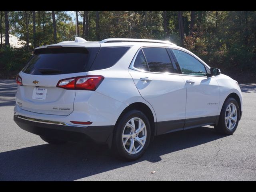
M 234 104 L 236 106 L 236 110 L 237 110 L 237 120 L 236 120 L 236 125 L 234 126 L 234 128 L 232 129 L 228 129 L 226 122 L 225 122 L 225 116 L 226 116 L 226 109 L 230 104 Z M 219 117 L 219 122 L 217 126 L 214 126 L 215 130 L 220 133 L 220 134 L 233 134 L 238 126 L 238 122 L 239 122 L 239 118 L 240 118 L 240 108 L 238 105 L 238 102 L 236 101 L 236 99 L 230 97 L 227 98 L 222 106 L 221 112 L 220 112 L 220 117 Z

